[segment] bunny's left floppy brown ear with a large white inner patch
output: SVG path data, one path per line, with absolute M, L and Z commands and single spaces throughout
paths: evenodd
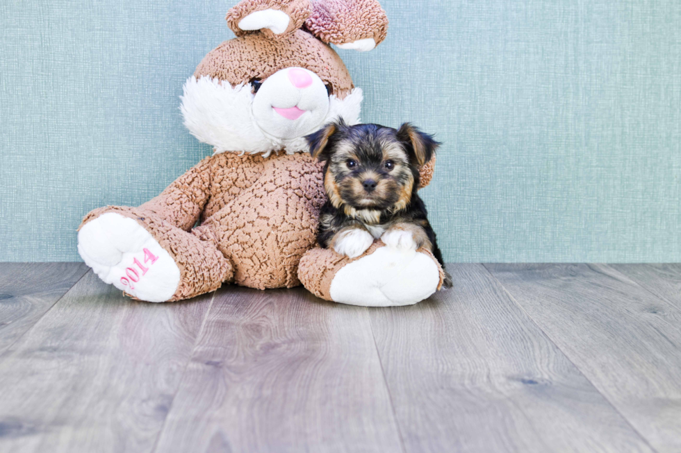
M 242 0 L 226 19 L 237 36 L 261 31 L 277 39 L 302 27 L 310 12 L 310 0 Z

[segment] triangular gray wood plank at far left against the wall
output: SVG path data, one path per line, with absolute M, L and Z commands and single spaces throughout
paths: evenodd
M 83 263 L 0 263 L 0 353 L 87 271 Z

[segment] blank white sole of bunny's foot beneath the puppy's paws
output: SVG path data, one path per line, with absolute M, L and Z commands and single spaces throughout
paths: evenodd
M 329 293 L 335 302 L 349 305 L 413 305 L 431 296 L 439 283 L 440 273 L 431 257 L 385 246 L 341 268 Z

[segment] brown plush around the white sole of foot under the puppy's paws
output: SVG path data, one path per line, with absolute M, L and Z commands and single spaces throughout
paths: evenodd
M 318 298 L 324 300 L 333 300 L 331 299 L 331 282 L 334 280 L 334 277 L 336 277 L 336 273 L 340 271 L 341 268 L 343 268 L 346 264 L 371 255 L 376 250 L 384 246 L 385 244 L 382 241 L 374 241 L 374 243 L 372 243 L 366 252 L 356 258 L 338 255 L 338 253 L 330 248 L 315 247 L 306 253 L 300 260 L 300 265 L 298 267 L 298 278 L 304 285 L 305 289 L 313 293 Z M 417 251 L 420 253 L 425 253 L 425 255 L 429 255 L 436 262 L 438 270 L 440 271 L 440 282 L 438 283 L 437 289 L 441 289 L 445 280 L 445 272 L 443 271 L 443 268 L 437 262 L 433 254 L 429 252 L 429 250 L 426 250 L 425 248 L 419 248 Z

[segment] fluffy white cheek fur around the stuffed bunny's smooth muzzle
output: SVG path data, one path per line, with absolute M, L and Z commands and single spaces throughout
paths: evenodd
M 261 90 L 265 83 L 267 80 Z M 300 132 L 297 137 L 277 138 L 258 125 L 253 109 L 255 95 L 250 84 L 232 87 L 229 83 L 220 83 L 217 78 L 197 79 L 192 76 L 183 91 L 181 111 L 184 124 L 199 141 L 214 146 L 215 153 L 263 153 L 265 156 L 282 149 L 288 154 L 307 152 L 304 135 L 338 117 L 343 117 L 348 124 L 359 123 L 363 99 L 360 88 L 353 89 L 343 100 L 331 95 L 326 115 L 318 124 L 309 125 L 310 130 Z M 270 99 L 275 102 L 278 101 L 276 98 L 271 96 Z M 288 105 L 282 103 L 277 106 Z M 296 121 L 304 120 L 303 117 Z

